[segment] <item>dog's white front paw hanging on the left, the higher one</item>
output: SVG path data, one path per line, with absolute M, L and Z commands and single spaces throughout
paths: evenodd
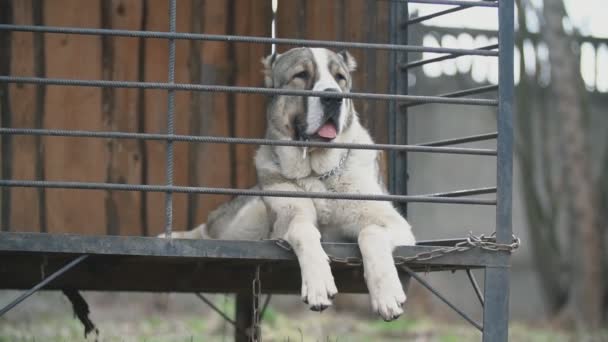
M 327 262 L 308 265 L 302 270 L 302 300 L 313 311 L 323 311 L 331 306 L 338 293 L 331 268 Z

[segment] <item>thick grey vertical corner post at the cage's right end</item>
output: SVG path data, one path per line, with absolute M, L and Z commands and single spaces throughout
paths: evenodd
M 513 186 L 513 0 L 499 1 L 499 103 L 497 140 L 496 240 L 511 241 L 511 191 Z M 509 258 L 509 255 L 504 255 Z M 509 269 L 487 267 L 485 271 L 483 340 L 509 338 Z

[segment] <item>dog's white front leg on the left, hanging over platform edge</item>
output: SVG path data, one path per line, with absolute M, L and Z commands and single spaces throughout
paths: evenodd
M 297 191 L 292 184 L 280 184 L 267 190 Z M 285 239 L 293 248 L 302 274 L 302 300 L 311 310 L 322 311 L 331 305 L 338 293 L 329 266 L 329 258 L 321 247 L 321 233 L 315 226 L 316 211 L 308 198 L 264 199 L 276 215 L 273 237 Z

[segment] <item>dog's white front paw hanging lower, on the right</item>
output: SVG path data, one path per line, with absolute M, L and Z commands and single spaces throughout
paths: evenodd
M 401 316 L 406 296 L 396 271 L 389 276 L 369 279 L 368 288 L 374 312 L 387 322 Z

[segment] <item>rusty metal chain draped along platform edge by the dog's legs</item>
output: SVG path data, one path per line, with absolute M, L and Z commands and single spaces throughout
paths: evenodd
M 512 252 L 513 250 L 519 248 L 520 243 L 521 241 L 515 235 L 513 235 L 511 243 L 503 244 L 496 242 L 496 233 L 492 233 L 490 236 L 485 236 L 484 234 L 473 235 L 473 233 L 469 233 L 469 236 L 466 240 L 458 242 L 454 246 L 440 247 L 428 252 L 421 252 L 409 257 L 395 256 L 394 260 L 395 265 L 401 265 L 412 261 L 427 261 L 442 257 L 450 253 L 465 252 L 476 247 L 495 252 Z M 285 240 L 277 240 L 276 244 L 283 249 L 291 251 L 289 243 L 287 243 Z M 349 266 L 361 266 L 363 264 L 363 260 L 358 257 L 337 258 L 331 255 L 328 255 L 328 257 L 332 262 L 346 264 Z

